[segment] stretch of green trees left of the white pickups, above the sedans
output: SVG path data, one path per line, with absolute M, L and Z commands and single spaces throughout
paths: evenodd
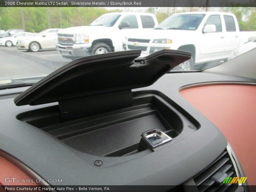
M 89 25 L 100 15 L 108 12 L 105 8 L 96 7 L 0 7 L 1 28 L 22 28 L 21 12 L 24 10 L 25 30 L 40 32 L 47 28 L 62 28 Z

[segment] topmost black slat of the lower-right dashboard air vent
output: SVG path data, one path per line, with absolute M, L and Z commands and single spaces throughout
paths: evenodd
M 227 162 L 229 161 L 229 158 L 223 157 L 219 161 L 217 161 L 215 164 L 213 164 L 210 168 L 205 170 L 202 174 L 198 175 L 194 180 L 196 185 L 201 185 L 209 179 L 215 172 L 217 172 L 220 168 L 222 168 Z

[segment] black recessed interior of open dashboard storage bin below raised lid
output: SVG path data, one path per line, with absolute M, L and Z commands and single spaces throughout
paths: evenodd
M 159 129 L 172 138 L 182 131 L 182 121 L 172 106 L 154 94 L 133 97 L 132 106 L 128 108 L 68 122 L 60 122 L 57 106 L 28 111 L 17 117 L 76 150 L 97 156 L 137 153 L 140 135 L 151 129 Z

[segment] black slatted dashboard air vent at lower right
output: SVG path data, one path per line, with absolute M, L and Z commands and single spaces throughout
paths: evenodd
M 200 192 L 235 191 L 238 184 L 223 184 L 226 177 L 236 177 L 235 168 L 225 150 L 210 166 L 194 177 Z

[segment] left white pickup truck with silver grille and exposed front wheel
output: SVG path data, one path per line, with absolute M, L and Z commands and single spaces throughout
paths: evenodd
M 107 13 L 89 26 L 60 30 L 56 49 L 68 59 L 122 51 L 125 36 L 152 30 L 157 25 L 156 16 L 152 13 Z

